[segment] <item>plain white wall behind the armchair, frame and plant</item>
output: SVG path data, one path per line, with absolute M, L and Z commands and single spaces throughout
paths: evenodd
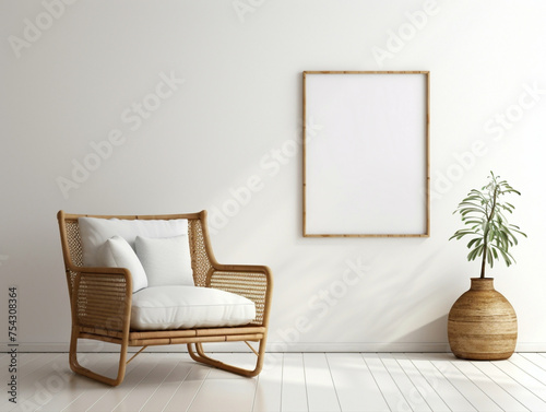
M 522 191 L 513 221 L 529 239 L 515 267 L 489 273 L 517 309 L 519 349 L 546 350 L 545 3 L 0 3 L 0 305 L 17 285 L 25 348 L 68 348 L 59 209 L 207 209 L 219 261 L 274 272 L 271 350 L 447 349 L 447 314 L 479 270 L 448 242 L 451 213 L 494 169 Z M 302 238 L 304 70 L 431 72 L 429 238 Z M 135 115 L 142 101 L 155 111 Z M 116 130 L 108 158 L 63 196 L 59 178 Z

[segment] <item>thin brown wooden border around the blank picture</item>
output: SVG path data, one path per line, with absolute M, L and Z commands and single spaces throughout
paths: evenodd
M 426 123 L 425 123 L 425 158 L 426 158 L 426 231 L 420 234 L 310 234 L 307 233 L 307 74 L 425 74 L 426 79 Z M 302 233 L 304 237 L 429 237 L 430 236 L 430 71 L 304 71 L 302 72 L 302 118 L 304 118 L 304 144 L 302 144 Z

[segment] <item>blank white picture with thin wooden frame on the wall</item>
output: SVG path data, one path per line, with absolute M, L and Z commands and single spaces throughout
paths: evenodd
M 304 72 L 304 236 L 427 237 L 429 72 Z

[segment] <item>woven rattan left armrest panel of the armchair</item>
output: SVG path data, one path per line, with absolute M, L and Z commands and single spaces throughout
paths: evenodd
M 74 326 L 129 331 L 132 302 L 131 272 L 124 268 L 74 268 Z

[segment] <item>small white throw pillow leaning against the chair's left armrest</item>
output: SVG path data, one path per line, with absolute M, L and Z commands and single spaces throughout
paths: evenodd
M 132 292 L 147 287 L 147 278 L 132 247 L 121 236 L 112 236 L 98 249 L 98 264 L 106 268 L 126 268 L 131 272 Z

